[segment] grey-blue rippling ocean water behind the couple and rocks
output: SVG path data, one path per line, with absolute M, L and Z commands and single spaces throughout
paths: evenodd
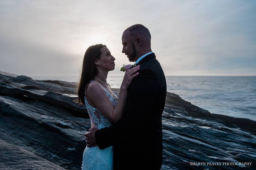
M 76 76 L 37 76 L 35 80 L 78 82 Z M 108 76 L 120 88 L 123 76 Z M 256 76 L 166 76 L 167 91 L 211 113 L 256 121 Z

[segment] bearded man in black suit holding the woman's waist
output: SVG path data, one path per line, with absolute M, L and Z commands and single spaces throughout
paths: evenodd
M 128 90 L 122 118 L 108 128 L 86 133 L 87 147 L 113 145 L 114 169 L 160 169 L 162 166 L 162 112 L 166 80 L 151 50 L 149 30 L 136 24 L 122 35 L 129 61 L 140 65 Z

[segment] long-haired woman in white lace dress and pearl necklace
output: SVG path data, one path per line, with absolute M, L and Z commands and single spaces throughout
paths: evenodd
M 115 69 L 115 58 L 106 45 L 90 46 L 83 58 L 78 85 L 78 102 L 85 104 L 91 120 L 91 128 L 102 129 L 118 121 L 125 107 L 127 88 L 139 73 L 139 66 L 128 70 L 119 91 L 119 98 L 106 82 L 109 71 Z M 135 74 L 134 74 L 135 73 Z M 106 139 L 107 140 L 107 139 Z M 113 146 L 104 150 L 98 146 L 86 147 L 83 152 L 82 170 L 113 169 Z

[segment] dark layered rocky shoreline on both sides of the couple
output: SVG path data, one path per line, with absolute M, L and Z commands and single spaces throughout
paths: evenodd
M 81 169 L 90 119 L 75 82 L 0 74 L 0 169 Z M 113 89 L 118 95 L 119 89 Z M 256 168 L 256 121 L 211 114 L 167 92 L 162 169 Z M 192 166 L 190 162 L 252 162 Z

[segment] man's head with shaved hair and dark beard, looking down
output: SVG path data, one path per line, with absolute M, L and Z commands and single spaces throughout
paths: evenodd
M 125 29 L 122 35 L 123 49 L 129 61 L 135 62 L 142 55 L 151 52 L 151 35 L 142 24 L 135 24 Z

